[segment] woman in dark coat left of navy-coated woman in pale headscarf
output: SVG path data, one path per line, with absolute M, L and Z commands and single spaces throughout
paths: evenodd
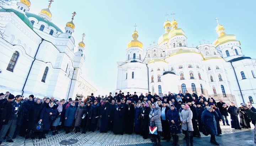
M 39 121 L 39 116 L 42 110 L 42 100 L 37 98 L 36 102 L 32 105 L 30 113 L 28 115 L 28 125 L 30 126 L 27 131 L 27 138 L 29 137 L 29 133 L 32 130 L 32 139 L 34 139 L 34 127 Z

